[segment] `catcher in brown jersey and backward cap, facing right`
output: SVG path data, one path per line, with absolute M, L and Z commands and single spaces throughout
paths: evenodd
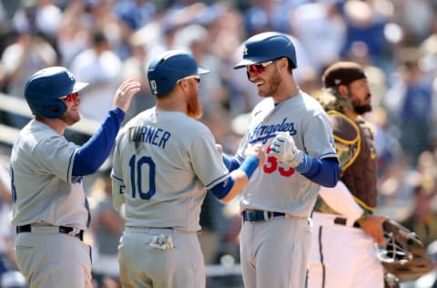
M 340 159 L 340 181 L 322 188 L 312 214 L 310 288 L 382 288 L 375 243 L 384 244 L 377 204 L 376 155 L 369 123 L 371 89 L 363 68 L 340 61 L 323 74 L 320 103 L 327 110 Z

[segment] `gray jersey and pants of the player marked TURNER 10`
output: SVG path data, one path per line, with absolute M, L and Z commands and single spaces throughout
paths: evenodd
M 123 287 L 205 287 L 196 231 L 206 189 L 229 178 L 208 128 L 184 113 L 150 108 L 117 136 L 114 199 L 124 187 L 118 246 Z

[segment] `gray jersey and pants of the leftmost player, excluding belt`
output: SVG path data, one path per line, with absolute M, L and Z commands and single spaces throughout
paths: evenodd
M 12 223 L 32 225 L 16 236 L 15 261 L 32 287 L 92 287 L 90 247 L 57 227 L 89 221 L 83 178 L 72 176 L 77 148 L 34 119 L 12 149 Z

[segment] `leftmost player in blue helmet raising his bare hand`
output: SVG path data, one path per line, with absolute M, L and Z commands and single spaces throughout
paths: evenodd
M 65 67 L 47 67 L 25 83 L 35 118 L 12 149 L 12 223 L 16 264 L 32 288 L 92 287 L 91 251 L 82 242 L 90 221 L 82 180 L 107 159 L 140 84 L 127 80 L 118 87 L 114 108 L 78 147 L 63 135 L 80 120 L 79 93 L 86 85 Z

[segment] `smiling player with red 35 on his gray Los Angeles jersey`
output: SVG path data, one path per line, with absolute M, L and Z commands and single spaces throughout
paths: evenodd
M 240 257 L 244 285 L 304 287 L 310 252 L 310 213 L 320 185 L 339 178 L 332 130 L 320 104 L 296 85 L 296 52 L 290 37 L 265 32 L 244 43 L 249 81 L 264 98 L 253 109 L 249 129 L 230 170 L 243 151 L 261 143 L 269 155 L 243 191 Z

